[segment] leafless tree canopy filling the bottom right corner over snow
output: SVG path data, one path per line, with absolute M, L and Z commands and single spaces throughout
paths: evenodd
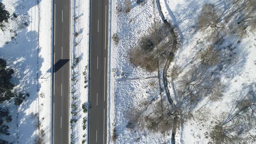
M 247 94 L 243 92 L 235 100 L 229 113 L 222 114 L 210 137 L 216 143 L 242 144 L 242 134 L 256 124 L 256 84 L 251 84 Z

